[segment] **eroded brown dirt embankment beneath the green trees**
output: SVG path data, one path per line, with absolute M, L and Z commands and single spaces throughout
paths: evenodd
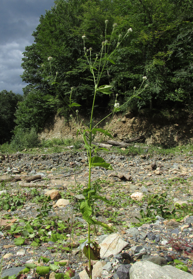
M 103 119 L 103 115 L 94 118 L 94 125 Z M 89 119 L 81 117 L 80 127 L 85 129 L 84 123 L 88 124 Z M 117 121 L 120 118 L 120 121 Z M 74 118 L 76 122 L 76 119 Z M 192 115 L 181 115 L 181 117 L 164 117 L 161 114 L 135 115 L 126 113 L 115 115 L 113 119 L 105 119 L 99 124 L 100 128 L 106 128 L 110 121 L 110 131 L 114 140 L 122 141 L 136 136 L 144 135 L 146 144 L 156 144 L 162 146 L 175 146 L 179 144 L 193 143 L 193 117 Z M 77 122 L 76 122 L 77 123 Z M 40 137 L 44 139 L 52 138 L 76 138 L 77 127 L 73 122 L 67 121 L 64 117 L 55 115 L 48 119 Z M 95 136 L 95 141 L 99 136 Z M 104 138 L 105 141 L 105 138 Z

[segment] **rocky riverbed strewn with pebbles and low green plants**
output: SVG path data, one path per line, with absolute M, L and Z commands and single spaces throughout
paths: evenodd
M 108 224 L 112 232 L 102 227 L 93 228 L 92 239 L 101 246 L 100 260 L 93 261 L 93 277 L 140 278 L 136 272 L 143 267 L 143 272 L 146 268 L 151 269 L 152 274 L 167 274 L 168 277 L 163 278 L 193 278 L 192 152 L 163 156 L 148 154 L 146 150 L 145 154 L 136 156 L 113 152 L 100 156 L 112 164 L 113 171 L 100 167 L 92 170 L 91 179 L 99 195 L 109 201 L 109 204 L 97 201 L 93 214 L 94 218 Z M 84 198 L 82 191 L 88 183 L 86 153 L 47 154 L 45 150 L 44 154 L 37 151 L 34 155 L 1 154 L 0 175 L 1 276 L 17 274 L 26 263 L 49 266 L 50 263 L 68 262 L 71 242 L 69 266 L 77 278 L 87 278 L 85 267 L 88 263 L 82 250 L 88 231 L 79 210 Z M 47 197 L 51 200 L 46 201 Z M 5 204 L 6 199 L 10 202 Z M 70 239 L 73 201 L 76 210 Z M 155 215 L 152 213 L 153 217 L 149 218 L 146 213 L 150 206 L 154 207 Z M 164 217 L 157 214 L 155 208 Z M 41 256 L 50 261 L 38 263 Z M 142 265 L 139 266 L 139 262 Z M 177 268 L 177 273 L 167 269 L 174 268 L 169 262 L 178 268 L 181 265 L 181 269 L 189 273 L 181 274 Z M 161 269 L 157 271 L 157 268 Z M 65 273 L 67 268 L 58 264 L 58 271 Z M 50 270 L 49 278 L 53 276 Z M 34 277 L 34 271 L 24 277 Z

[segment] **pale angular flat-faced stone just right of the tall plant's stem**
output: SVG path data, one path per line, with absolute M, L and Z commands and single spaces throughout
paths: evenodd
M 123 241 L 117 233 L 110 234 L 103 242 L 100 243 L 100 257 L 109 257 L 110 255 L 117 255 L 129 244 Z

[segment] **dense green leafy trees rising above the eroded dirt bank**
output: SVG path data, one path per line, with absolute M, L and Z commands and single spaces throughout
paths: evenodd
M 119 34 L 124 36 L 128 28 L 133 32 L 114 52 L 115 64 L 106 64 L 101 85 L 110 84 L 113 89 L 110 97 L 98 97 L 98 111 L 111 108 L 117 93 L 120 103 L 126 100 L 134 86 L 139 88 L 143 76 L 149 87 L 130 108 L 192 108 L 192 0 L 57 0 L 51 11 L 40 17 L 32 34 L 34 43 L 23 53 L 21 78 L 28 85 L 16 112 L 19 127 L 38 131 L 50 114 L 58 111 L 67 116 L 62 98 L 68 99 L 72 86 L 74 101 L 84 105 L 85 114 L 90 112 L 93 79 L 85 62 L 82 36 L 95 58 L 107 19 L 107 38 L 117 23 L 112 50 Z M 53 74 L 57 72 L 57 91 L 49 56 Z

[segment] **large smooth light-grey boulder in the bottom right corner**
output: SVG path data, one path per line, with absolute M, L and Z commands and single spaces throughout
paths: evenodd
M 130 279 L 193 279 L 193 276 L 173 266 L 163 267 L 149 262 L 136 262 L 131 266 Z

